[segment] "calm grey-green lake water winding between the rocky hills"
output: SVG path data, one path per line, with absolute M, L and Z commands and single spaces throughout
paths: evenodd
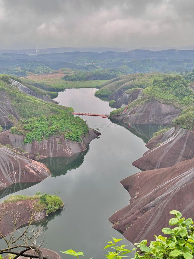
M 107 101 L 94 96 L 97 89 L 68 89 L 55 99 L 77 112 L 109 114 Z M 104 241 L 111 236 L 122 238 L 108 218 L 129 204 L 129 193 L 120 180 L 139 172 L 132 162 L 146 152 L 144 141 L 128 129 L 108 118 L 83 116 L 91 128 L 100 128 L 102 135 L 93 140 L 88 150 L 72 158 L 41 160 L 52 176 L 33 186 L 25 186 L 16 194 L 33 195 L 37 191 L 57 193 L 65 208 L 48 217 L 44 234 L 46 247 L 55 251 L 83 251 L 85 258 L 104 258 Z M 23 189 L 23 190 L 22 190 Z M 8 197 L 5 196 L 4 199 Z M 2 201 L 2 199 L 1 199 Z M 131 244 L 123 240 L 123 244 Z M 1 240 L 2 246 L 2 240 Z M 62 258 L 72 258 L 62 255 Z

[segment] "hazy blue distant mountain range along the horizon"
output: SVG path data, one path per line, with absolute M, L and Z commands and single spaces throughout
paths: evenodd
M 56 48 L 55 51 L 63 49 Z M 114 68 L 125 73 L 185 72 L 194 69 L 194 50 L 69 51 L 35 55 L 0 53 L 0 73 L 25 76 L 25 71 L 48 73 L 49 70 L 61 68 L 79 70 Z

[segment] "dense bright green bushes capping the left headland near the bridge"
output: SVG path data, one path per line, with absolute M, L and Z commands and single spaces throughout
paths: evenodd
M 33 140 L 41 142 L 51 135 L 64 135 L 72 141 L 81 141 L 81 136 L 86 135 L 88 131 L 84 120 L 65 113 L 21 120 L 16 127 L 11 128 L 12 134 L 25 135 L 23 144 L 32 143 Z

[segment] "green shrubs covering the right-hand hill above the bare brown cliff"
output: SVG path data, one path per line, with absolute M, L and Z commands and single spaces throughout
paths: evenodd
M 194 78 L 192 75 L 194 75 L 194 72 L 189 73 L 188 75 L 190 80 Z M 126 93 L 130 93 L 129 91 L 131 90 L 126 91 Z M 143 97 L 128 105 L 128 110 L 153 100 L 163 104 L 173 105 L 174 107 L 181 109 L 181 116 L 176 118 L 173 123 L 175 126 L 180 125 L 182 128 L 193 128 L 194 92 L 189 88 L 188 80 L 178 75 L 165 75 L 163 78 L 154 79 L 152 84 L 143 90 Z M 120 110 L 117 109 L 111 112 L 110 116 L 118 114 L 118 112 L 120 112 Z

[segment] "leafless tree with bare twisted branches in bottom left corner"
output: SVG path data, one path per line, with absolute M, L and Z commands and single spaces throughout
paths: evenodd
M 22 213 L 16 207 L 12 206 L 12 203 L 3 203 L 0 213 L 0 237 L 6 243 L 6 248 L 0 249 L 0 254 L 9 254 L 15 255 L 11 257 L 16 259 L 19 256 L 30 257 L 30 258 L 39 258 L 39 259 L 49 259 L 49 256 L 43 255 L 40 247 L 42 246 L 45 236 L 41 237 L 43 227 L 35 230 L 31 225 L 37 222 L 40 219 L 40 213 L 42 213 L 43 207 L 39 206 L 37 201 L 32 201 L 26 209 L 22 212 L 27 215 L 28 225 L 25 227 L 25 230 L 20 232 L 18 227 L 22 226 Z M 5 232 L 5 229 L 2 228 L 2 223 L 5 220 L 4 218 L 11 219 L 12 230 Z M 5 224 L 5 223 L 4 223 Z M 31 229 L 30 229 L 31 227 Z M 37 242 L 37 240 L 40 240 Z M 21 251 L 18 251 L 18 248 Z M 28 253 L 27 253 L 28 252 Z M 29 253 L 30 252 L 30 253 Z

